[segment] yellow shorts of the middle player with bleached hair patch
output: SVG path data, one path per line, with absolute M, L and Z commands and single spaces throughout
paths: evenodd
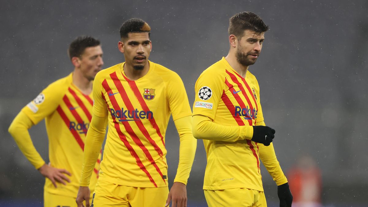
M 130 187 L 98 180 L 91 207 L 164 207 L 168 187 Z

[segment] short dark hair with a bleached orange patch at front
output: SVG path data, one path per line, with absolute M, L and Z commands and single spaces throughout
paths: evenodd
M 151 34 L 151 27 L 147 24 L 147 22 L 139 19 L 132 18 L 130 20 L 125 21 L 120 27 L 120 38 L 125 39 L 128 38 L 128 33 L 130 32 L 148 32 L 148 36 Z

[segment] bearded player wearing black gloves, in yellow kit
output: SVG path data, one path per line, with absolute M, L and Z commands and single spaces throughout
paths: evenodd
M 251 12 L 230 18 L 230 50 L 195 84 L 193 134 L 207 154 L 204 193 L 208 206 L 267 206 L 259 159 L 277 184 L 280 206 L 291 206 L 287 179 L 266 126 L 256 78 L 248 71 L 261 52 L 268 26 Z

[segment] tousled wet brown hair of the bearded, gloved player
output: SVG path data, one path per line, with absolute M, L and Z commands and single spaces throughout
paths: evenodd
M 229 35 L 235 35 L 238 39 L 241 39 L 246 29 L 261 33 L 267 31 L 268 28 L 261 17 L 250 11 L 244 11 L 230 18 L 228 31 Z

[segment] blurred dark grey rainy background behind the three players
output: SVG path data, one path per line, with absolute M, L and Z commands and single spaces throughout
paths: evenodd
M 227 55 L 229 18 L 252 11 L 270 26 L 250 71 L 261 88 L 266 124 L 276 129 L 283 171 L 309 154 L 322 171 L 324 205 L 366 206 L 367 8 L 366 0 L 1 1 L 0 201 L 3 206 L 42 203 L 44 179 L 7 129 L 43 88 L 72 71 L 66 51 L 76 36 L 100 39 L 107 68 L 124 60 L 117 49 L 120 25 L 132 17 L 146 20 L 152 28 L 149 59 L 181 76 L 192 104 L 199 74 Z M 44 122 L 30 131 L 48 161 Z M 166 143 L 172 185 L 178 162 L 172 121 Z M 198 140 L 187 186 L 192 206 L 205 206 L 205 164 Z M 276 185 L 264 168 L 262 175 L 269 206 L 275 205 Z

